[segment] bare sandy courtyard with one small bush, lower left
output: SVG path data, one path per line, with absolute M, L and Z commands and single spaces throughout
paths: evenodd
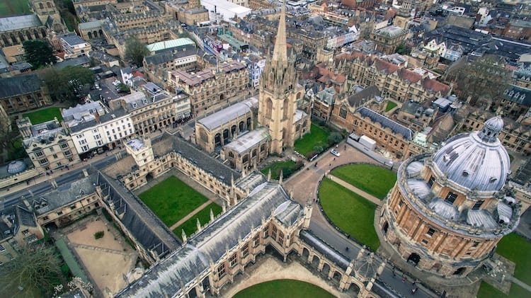
M 119 231 L 103 217 L 90 217 L 69 227 L 66 235 L 74 251 L 103 297 L 113 297 L 126 282 L 123 279 L 135 268 L 137 252 L 122 238 Z M 103 236 L 96 239 L 96 232 Z

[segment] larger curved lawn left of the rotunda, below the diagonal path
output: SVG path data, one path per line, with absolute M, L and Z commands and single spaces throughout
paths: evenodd
M 373 251 L 379 239 L 373 226 L 376 205 L 357 193 L 324 178 L 319 188 L 319 200 L 331 222 Z

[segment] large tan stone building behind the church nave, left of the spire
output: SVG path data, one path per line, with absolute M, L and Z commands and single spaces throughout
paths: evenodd
M 195 117 L 241 100 L 249 93 L 249 71 L 241 62 L 224 62 L 197 72 L 170 71 L 169 84 L 190 96 Z

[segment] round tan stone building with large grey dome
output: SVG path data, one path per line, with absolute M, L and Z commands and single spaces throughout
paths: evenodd
M 491 118 L 481 131 L 401 164 L 379 219 L 401 258 L 437 275 L 467 275 L 518 226 L 520 202 L 503 188 L 510 161 L 502 129 L 503 120 Z

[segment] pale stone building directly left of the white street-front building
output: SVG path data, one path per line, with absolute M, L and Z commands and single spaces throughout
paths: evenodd
M 79 156 L 76 147 L 57 118 L 32 125 L 30 118 L 17 120 L 22 134 L 22 144 L 39 173 L 77 164 Z

